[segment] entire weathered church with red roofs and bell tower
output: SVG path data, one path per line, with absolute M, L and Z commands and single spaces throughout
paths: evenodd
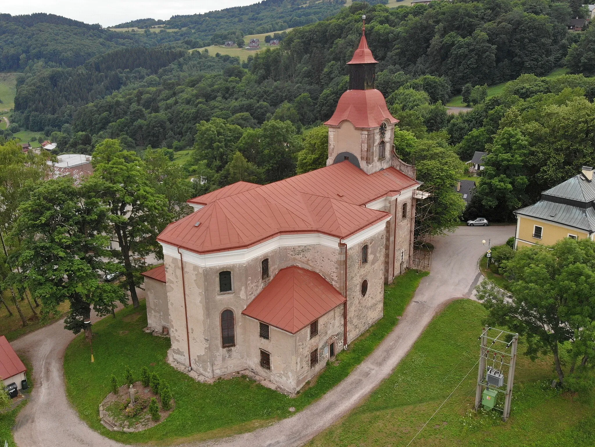
M 250 370 L 296 393 L 383 316 L 384 284 L 409 266 L 415 168 L 375 89 L 365 33 L 328 126 L 327 166 L 189 200 L 145 273 L 149 327 L 174 361 L 212 378 Z

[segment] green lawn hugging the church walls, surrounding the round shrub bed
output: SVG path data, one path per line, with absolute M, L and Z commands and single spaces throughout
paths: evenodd
M 203 384 L 174 370 L 165 361 L 170 341 L 142 331 L 147 325 L 144 303 L 140 309 L 123 309 L 117 312 L 117 318 L 107 317 L 93 325 L 94 364 L 89 362 L 89 344 L 83 334 L 68 346 L 64 358 L 68 398 L 90 427 L 126 443 L 163 445 L 174 439 L 208 439 L 256 429 L 290 416 L 291 406 L 300 411 L 347 377 L 393 329 L 424 276 L 411 271 L 386 287 L 384 317 L 351 343 L 348 351 L 340 352 L 337 361 L 328 365 L 297 398 L 245 378 Z M 123 381 L 126 365 L 130 365 L 136 378 L 143 366 L 158 373 L 170 384 L 176 399 L 176 409 L 170 417 L 145 432 L 109 432 L 99 423 L 98 406 L 109 393 L 109 377 L 115 374 Z

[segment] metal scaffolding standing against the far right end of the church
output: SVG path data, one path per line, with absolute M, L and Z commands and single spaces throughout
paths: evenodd
M 431 243 L 434 218 L 434 187 L 421 185 L 414 194 L 415 225 L 411 230 L 409 268 L 430 271 L 432 266 Z

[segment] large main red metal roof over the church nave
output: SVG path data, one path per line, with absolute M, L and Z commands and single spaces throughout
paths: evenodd
M 368 175 L 349 162 L 209 201 L 168 225 L 158 240 L 196 253 L 246 248 L 280 234 L 318 232 L 345 238 L 390 215 L 369 201 L 417 185 L 390 167 Z M 205 203 L 204 196 L 193 199 Z

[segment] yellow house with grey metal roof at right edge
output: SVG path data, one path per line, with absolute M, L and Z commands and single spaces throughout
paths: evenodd
M 537 203 L 515 211 L 515 249 L 534 244 L 552 245 L 565 237 L 595 235 L 595 182 L 593 167 L 543 191 Z

